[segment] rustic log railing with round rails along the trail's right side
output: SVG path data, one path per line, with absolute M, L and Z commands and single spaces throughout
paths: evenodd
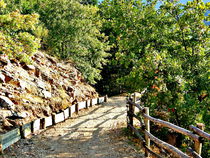
M 150 154 L 154 157 L 162 157 L 151 150 L 150 148 L 150 140 L 153 141 L 158 147 L 165 149 L 169 153 L 173 155 L 173 157 L 177 158 L 201 158 L 201 151 L 202 151 L 202 140 L 207 139 L 210 140 L 210 134 L 204 132 L 204 125 L 203 124 L 197 124 L 197 127 L 190 125 L 190 130 L 184 129 L 182 127 L 179 127 L 177 125 L 174 125 L 170 122 L 163 121 L 161 119 L 154 118 L 149 115 L 149 108 L 148 107 L 142 107 L 141 101 L 137 100 L 136 97 L 137 93 L 134 93 L 129 98 L 127 98 L 127 116 L 128 116 L 128 122 L 127 127 L 134 132 L 134 134 L 139 138 L 139 140 L 142 142 L 142 146 L 145 148 L 145 156 L 148 157 Z M 141 94 L 140 94 L 141 96 Z M 139 109 L 139 114 L 141 117 L 137 116 L 135 113 L 135 107 Z M 134 118 L 136 118 L 140 122 L 140 126 L 135 128 L 134 126 Z M 150 133 L 150 121 L 153 123 L 159 125 L 160 127 L 167 127 L 172 129 L 173 131 L 183 134 L 185 136 L 188 136 L 194 141 L 194 147 L 187 149 L 187 154 L 176 148 L 175 146 L 168 144 L 154 135 Z M 142 136 L 142 134 L 144 136 Z

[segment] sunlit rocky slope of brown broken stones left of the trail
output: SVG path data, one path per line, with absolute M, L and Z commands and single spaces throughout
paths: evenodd
M 97 96 L 71 63 L 42 52 L 31 65 L 0 55 L 0 133 Z

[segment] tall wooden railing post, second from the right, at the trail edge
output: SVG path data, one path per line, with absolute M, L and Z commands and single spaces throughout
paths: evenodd
M 145 115 L 149 116 L 149 107 L 144 108 Z M 146 118 L 144 118 L 144 124 L 145 124 L 145 130 L 150 133 L 150 121 Z M 150 148 L 150 139 L 147 135 L 145 135 L 146 145 L 148 148 Z M 145 156 L 149 157 L 149 152 L 145 149 Z

